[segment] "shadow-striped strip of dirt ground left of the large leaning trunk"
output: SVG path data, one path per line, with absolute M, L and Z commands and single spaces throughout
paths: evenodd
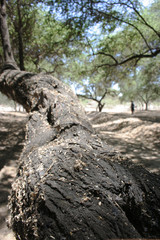
M 3 240 L 15 239 L 6 224 L 7 203 L 23 149 L 26 120 L 23 113 L 0 113 L 0 236 Z

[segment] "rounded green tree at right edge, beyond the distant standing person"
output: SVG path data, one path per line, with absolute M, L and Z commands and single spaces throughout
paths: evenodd
M 160 96 L 160 58 L 145 59 L 132 69 L 126 78 L 119 83 L 122 100 L 135 100 L 145 105 L 148 110 L 150 102 Z

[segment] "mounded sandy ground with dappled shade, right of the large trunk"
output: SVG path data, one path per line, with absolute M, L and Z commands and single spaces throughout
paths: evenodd
M 99 136 L 150 172 L 160 173 L 160 111 L 88 113 Z

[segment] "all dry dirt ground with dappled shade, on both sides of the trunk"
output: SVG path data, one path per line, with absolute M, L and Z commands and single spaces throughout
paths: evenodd
M 104 141 L 136 164 L 160 173 L 160 111 L 130 113 L 88 112 Z M 0 113 L 0 239 L 15 240 L 6 219 L 11 183 L 23 148 L 27 114 Z

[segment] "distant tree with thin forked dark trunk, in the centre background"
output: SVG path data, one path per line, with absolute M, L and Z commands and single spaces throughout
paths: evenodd
M 116 91 L 111 87 L 115 80 L 112 68 L 98 69 L 96 67 L 98 58 L 90 61 L 87 55 L 88 48 L 84 50 L 81 46 L 80 53 L 75 61 L 73 59 L 66 64 L 68 71 L 64 75 L 65 81 L 75 86 L 77 96 L 90 99 L 97 103 L 98 111 L 102 111 L 105 105 L 106 95 L 115 95 Z

